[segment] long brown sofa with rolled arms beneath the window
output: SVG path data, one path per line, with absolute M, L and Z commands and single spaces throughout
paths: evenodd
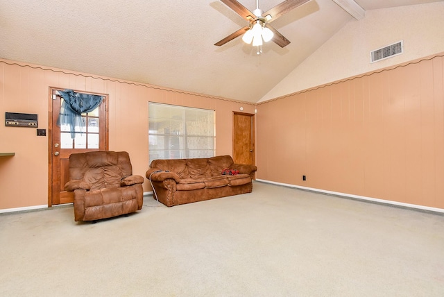
M 239 174 L 222 175 L 224 169 Z M 252 179 L 257 167 L 234 164 L 230 155 L 213 158 L 153 160 L 146 178 L 153 185 L 153 198 L 167 206 L 253 191 Z M 156 197 L 157 195 L 157 197 Z

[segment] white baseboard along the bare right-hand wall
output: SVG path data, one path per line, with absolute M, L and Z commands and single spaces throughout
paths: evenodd
M 316 188 L 312 188 L 312 187 L 302 187 L 302 186 L 298 186 L 298 185 L 277 183 L 277 182 L 273 182 L 271 180 L 261 180 L 261 179 L 256 179 L 256 180 L 258 182 L 261 182 L 261 183 L 270 183 L 270 184 L 274 184 L 274 185 L 282 185 L 284 187 L 293 187 L 293 188 L 296 188 L 296 189 L 304 189 L 304 190 L 307 190 L 307 191 L 319 192 L 319 193 L 329 194 L 329 195 L 334 195 L 334 196 L 339 196 L 339 197 L 342 196 L 342 197 L 353 198 L 353 199 L 358 199 L 358 200 L 372 201 L 372 202 L 375 202 L 375 203 L 391 204 L 391 205 L 397 205 L 397 206 L 402 206 L 402 207 L 416 208 L 418 210 L 427 210 L 429 212 L 441 212 L 441 213 L 444 213 L 444 209 L 443 208 L 436 208 L 436 207 L 429 207 L 429 206 L 423 206 L 423 205 L 402 203 L 402 202 L 397 202 L 397 201 L 389 201 L 389 200 L 372 198 L 372 197 L 366 197 L 366 196 L 359 196 L 359 195 L 346 194 L 346 193 L 341 193 L 341 192 L 327 191 L 325 189 L 316 189 Z

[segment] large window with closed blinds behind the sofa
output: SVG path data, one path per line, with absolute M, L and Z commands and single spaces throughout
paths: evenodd
M 214 110 L 148 103 L 150 163 L 215 155 Z

